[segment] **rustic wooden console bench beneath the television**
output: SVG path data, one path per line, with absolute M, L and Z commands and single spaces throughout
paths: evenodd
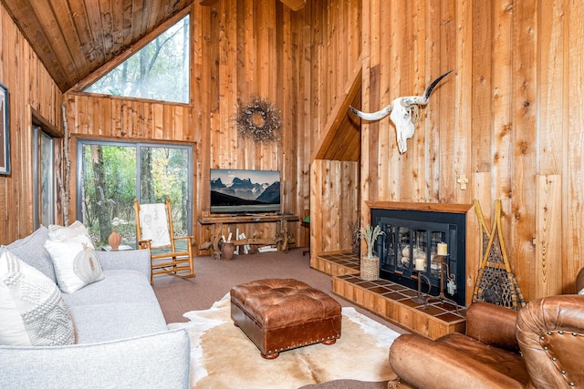
M 277 251 L 287 251 L 290 237 L 288 236 L 288 221 L 298 221 L 298 217 L 291 214 L 274 214 L 274 215 L 233 215 L 233 216 L 199 216 L 199 224 L 213 225 L 211 230 L 211 241 L 207 241 L 199 246 L 201 250 L 212 249 L 212 255 L 215 260 L 221 256 L 219 242 L 221 241 L 224 224 L 244 224 L 244 223 L 276 223 L 276 234 L 273 237 L 266 238 L 246 238 L 235 240 L 232 243 L 235 246 L 244 244 L 268 245 L 275 244 Z M 237 237 L 235 237 L 237 238 Z

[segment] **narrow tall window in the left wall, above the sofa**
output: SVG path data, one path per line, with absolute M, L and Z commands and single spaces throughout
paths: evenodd
M 55 172 L 55 141 L 39 126 L 33 125 L 33 224 L 55 223 L 55 198 L 57 183 Z

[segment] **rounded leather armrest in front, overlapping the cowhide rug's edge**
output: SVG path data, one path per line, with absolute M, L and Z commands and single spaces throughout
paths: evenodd
M 390 348 L 390 364 L 393 372 L 398 374 L 405 384 L 411 384 L 413 387 L 523 388 L 523 385 L 512 377 L 489 368 L 485 363 L 460 353 L 447 344 L 419 335 L 403 334 L 393 341 Z

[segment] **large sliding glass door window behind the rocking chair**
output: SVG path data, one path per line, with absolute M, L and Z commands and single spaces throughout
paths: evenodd
M 193 148 L 78 140 L 78 220 L 105 246 L 117 220 L 122 245 L 135 247 L 134 199 L 172 202 L 176 234 L 191 234 Z

